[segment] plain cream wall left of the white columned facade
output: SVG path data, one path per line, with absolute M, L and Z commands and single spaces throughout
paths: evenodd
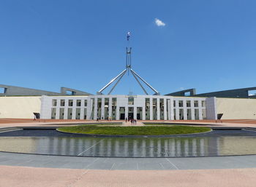
M 34 119 L 40 113 L 41 96 L 0 97 L 0 118 Z

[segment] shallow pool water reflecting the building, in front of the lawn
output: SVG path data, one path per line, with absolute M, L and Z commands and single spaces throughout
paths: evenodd
M 256 154 L 255 143 L 253 137 L 3 137 L 0 138 L 0 151 L 113 157 L 225 156 Z

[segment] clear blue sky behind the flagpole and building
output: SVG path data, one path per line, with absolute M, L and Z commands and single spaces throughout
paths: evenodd
M 253 0 L 1 0 L 0 84 L 96 93 L 124 70 L 130 31 L 132 68 L 161 94 L 255 87 L 255 7 Z M 143 94 L 130 75 L 113 94 L 128 92 Z

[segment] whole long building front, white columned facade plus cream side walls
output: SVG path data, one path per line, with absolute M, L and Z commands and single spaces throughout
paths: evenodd
M 254 98 L 170 95 L 3 95 L 0 118 L 138 120 L 256 119 Z

